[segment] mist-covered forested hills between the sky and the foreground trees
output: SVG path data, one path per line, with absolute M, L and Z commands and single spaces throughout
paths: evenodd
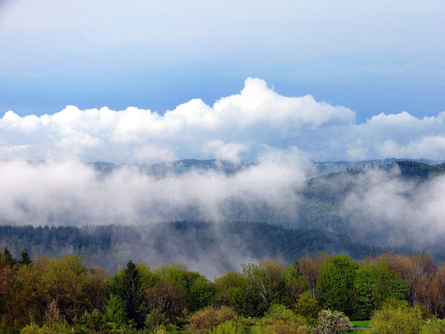
M 110 272 L 130 259 L 181 262 L 208 277 L 320 251 L 439 262 L 445 163 L 426 162 L 2 162 L 0 243 L 16 257 L 76 253 Z

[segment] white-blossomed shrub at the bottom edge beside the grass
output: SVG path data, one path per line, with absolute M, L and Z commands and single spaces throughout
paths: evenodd
M 343 312 L 322 310 L 312 334 L 340 334 L 352 331 L 352 322 Z

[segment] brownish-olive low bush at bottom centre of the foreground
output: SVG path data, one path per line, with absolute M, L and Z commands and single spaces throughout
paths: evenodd
M 190 330 L 192 333 L 207 333 L 209 329 L 237 317 L 238 313 L 231 307 L 221 306 L 219 309 L 207 307 L 190 317 L 190 323 L 186 326 L 186 330 Z

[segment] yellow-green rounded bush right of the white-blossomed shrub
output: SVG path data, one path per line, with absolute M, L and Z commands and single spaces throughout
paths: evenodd
M 370 326 L 378 334 L 418 334 L 423 323 L 419 307 L 394 307 L 385 304 L 381 310 L 374 313 Z

